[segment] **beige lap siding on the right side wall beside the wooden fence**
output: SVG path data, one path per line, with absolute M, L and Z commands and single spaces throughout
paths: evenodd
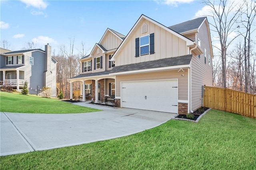
M 206 23 L 200 27 L 197 38 L 200 39 L 200 47 L 206 49 L 206 64 L 204 63 L 204 55 L 200 58 L 193 54 L 191 60 L 191 88 L 192 88 L 192 110 L 196 110 L 202 106 L 202 85 L 212 86 L 212 55 L 210 53 L 210 40 L 208 38 L 208 30 Z M 208 64 L 208 55 L 210 55 L 210 65 Z

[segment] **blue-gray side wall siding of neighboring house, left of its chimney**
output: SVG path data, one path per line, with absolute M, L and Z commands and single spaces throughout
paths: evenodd
M 29 57 L 34 57 L 34 65 L 29 64 Z M 29 94 L 37 94 L 37 86 L 45 86 L 45 53 L 33 51 L 26 53 L 26 65 L 20 71 L 25 71 L 24 81 L 28 82 Z M 33 73 L 33 74 L 32 74 Z

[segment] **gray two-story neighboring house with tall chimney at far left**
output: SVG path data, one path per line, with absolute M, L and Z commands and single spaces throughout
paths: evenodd
M 10 51 L 0 49 L 0 85 L 11 85 L 21 91 L 28 82 L 29 94 L 38 95 L 42 87 L 52 89 L 56 97 L 56 64 L 49 44 L 45 49 Z

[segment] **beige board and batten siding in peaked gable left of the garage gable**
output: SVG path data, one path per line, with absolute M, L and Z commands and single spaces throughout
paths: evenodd
M 120 38 L 116 37 L 114 34 L 112 34 L 110 31 L 106 34 L 102 42 L 100 43 L 106 50 L 111 50 L 118 48 L 119 45 L 122 43 L 122 40 Z

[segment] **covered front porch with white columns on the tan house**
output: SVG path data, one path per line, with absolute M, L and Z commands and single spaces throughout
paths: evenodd
M 115 76 L 83 77 L 71 79 L 70 99 L 110 104 L 115 98 Z M 80 89 L 73 89 L 73 83 L 80 81 Z

